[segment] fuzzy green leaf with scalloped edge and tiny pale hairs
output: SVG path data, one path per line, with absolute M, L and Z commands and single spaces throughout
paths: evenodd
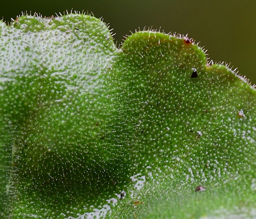
M 2 218 L 256 218 L 256 89 L 189 38 L 21 16 L 0 51 Z

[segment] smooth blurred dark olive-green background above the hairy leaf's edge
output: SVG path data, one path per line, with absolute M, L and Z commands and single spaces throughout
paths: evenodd
M 188 34 L 208 51 L 214 62 L 225 61 L 238 67 L 239 74 L 256 84 L 256 1 L 248 0 L 61 0 L 5 1 L 0 17 L 10 21 L 21 12 L 43 16 L 74 10 L 93 12 L 114 28 L 117 44 L 138 28 L 153 27 L 166 33 Z

